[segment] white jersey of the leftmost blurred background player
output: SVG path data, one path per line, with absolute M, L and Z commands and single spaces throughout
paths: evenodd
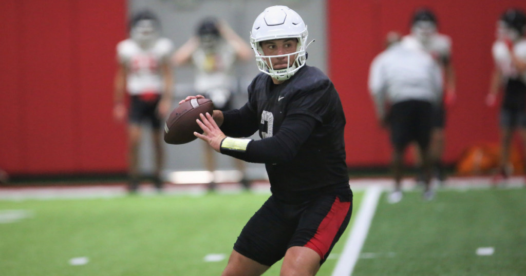
M 133 39 L 117 44 L 119 62 L 128 70 L 126 88 L 130 95 L 161 94 L 164 90 L 160 68 L 169 62 L 174 45 L 168 38 L 158 38 L 150 47 L 142 48 Z

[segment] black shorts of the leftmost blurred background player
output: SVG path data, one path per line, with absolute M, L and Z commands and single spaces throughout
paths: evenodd
M 130 108 L 128 121 L 130 124 L 140 125 L 143 121 L 148 121 L 152 128 L 159 129 L 161 120 L 157 115 L 157 105 L 160 95 L 152 95 L 148 98 L 139 95 L 130 97 Z

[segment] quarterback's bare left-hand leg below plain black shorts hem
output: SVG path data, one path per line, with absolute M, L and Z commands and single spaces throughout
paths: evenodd
M 267 265 L 260 264 L 241 255 L 236 250 L 232 250 L 227 267 L 221 273 L 221 276 L 259 276 L 268 269 Z

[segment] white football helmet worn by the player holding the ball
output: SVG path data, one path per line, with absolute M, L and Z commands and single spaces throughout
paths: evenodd
M 307 60 L 307 25 L 303 19 L 292 9 L 286 6 L 272 6 L 265 9 L 254 22 L 252 32 L 250 32 L 250 45 L 256 54 L 256 63 L 263 73 L 277 80 L 287 80 L 292 77 L 299 68 L 305 65 Z M 298 46 L 296 52 L 286 55 L 265 56 L 260 42 L 264 40 L 297 38 Z M 287 68 L 272 68 L 271 58 L 288 58 Z M 294 63 L 290 65 L 290 58 L 294 58 Z M 266 60 L 269 59 L 269 64 Z

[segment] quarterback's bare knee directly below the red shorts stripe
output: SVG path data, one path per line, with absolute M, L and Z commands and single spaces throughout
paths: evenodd
M 316 275 L 319 269 L 320 256 L 316 251 L 308 247 L 295 246 L 287 250 L 280 275 Z

